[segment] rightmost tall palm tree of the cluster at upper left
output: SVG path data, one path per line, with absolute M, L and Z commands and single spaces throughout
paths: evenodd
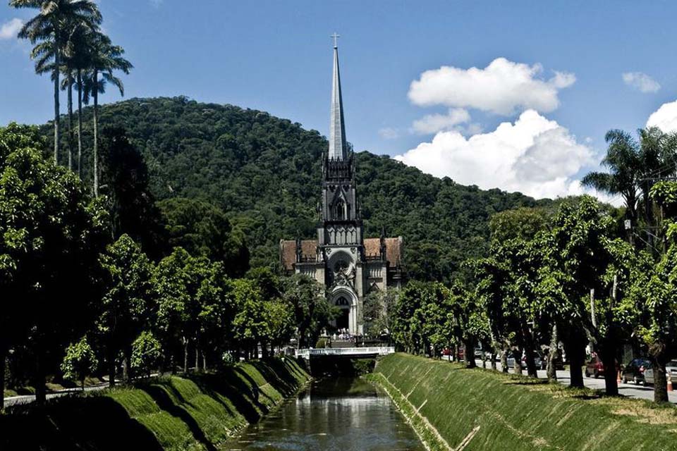
M 122 80 L 117 78 L 114 70 L 122 70 L 128 74 L 134 67 L 123 58 L 124 49 L 111 44 L 111 39 L 97 32 L 90 42 L 90 68 L 85 78 L 85 103 L 89 103 L 90 96 L 94 101 L 94 196 L 99 195 L 99 94 L 106 92 L 106 84 L 111 83 L 118 88 L 120 95 L 125 95 Z M 101 78 L 99 78 L 99 74 Z

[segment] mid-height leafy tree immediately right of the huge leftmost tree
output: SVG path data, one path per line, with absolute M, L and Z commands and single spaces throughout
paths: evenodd
M 107 291 L 97 326 L 106 342 L 109 383 L 114 385 L 118 352 L 123 352 L 123 379 L 128 381 L 133 341 L 149 325 L 157 308 L 153 264 L 129 235 L 122 235 L 106 249 L 101 265 L 106 271 Z

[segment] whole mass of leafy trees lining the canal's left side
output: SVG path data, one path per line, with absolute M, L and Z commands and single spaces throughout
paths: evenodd
M 128 163 L 138 155 L 123 136 L 104 142 L 106 155 Z M 11 378 L 30 378 L 38 402 L 45 376 L 59 370 L 81 379 L 105 369 L 114 383 L 118 366 L 130 378 L 135 369 L 185 370 L 191 356 L 205 369 L 224 354 L 267 354 L 296 334 L 307 346 L 334 315 L 314 280 L 268 270 L 243 277 L 246 247 L 205 201 L 153 207 L 142 164 L 110 171 L 111 196 L 91 197 L 44 148 L 37 128 L 0 128 L 0 374 L 9 362 Z M 171 244 L 157 257 L 144 252 L 157 245 L 143 230 L 154 209 L 160 241 Z

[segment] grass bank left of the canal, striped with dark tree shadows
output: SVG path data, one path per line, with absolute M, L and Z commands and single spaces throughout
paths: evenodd
M 0 450 L 216 450 L 308 378 L 285 358 L 59 398 L 1 416 Z

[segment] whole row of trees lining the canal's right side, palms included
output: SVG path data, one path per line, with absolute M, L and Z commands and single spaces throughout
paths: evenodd
M 638 140 L 612 130 L 606 139 L 610 173 L 584 182 L 621 195 L 625 211 L 583 196 L 556 210 L 495 214 L 489 256 L 464 264 L 472 278 L 403 290 L 391 310 L 398 345 L 434 355 L 453 345 L 470 353 L 480 342 L 501 354 L 504 371 L 513 354 L 521 373 L 524 355 L 530 376 L 535 351 L 547 350 L 554 379 L 561 343 L 575 387 L 583 387 L 590 345 L 604 363 L 606 393 L 617 395 L 629 344 L 652 362 L 654 399 L 667 401 L 665 365 L 677 352 L 677 183 L 665 177 L 675 173 L 677 142 L 658 129 L 640 130 Z

